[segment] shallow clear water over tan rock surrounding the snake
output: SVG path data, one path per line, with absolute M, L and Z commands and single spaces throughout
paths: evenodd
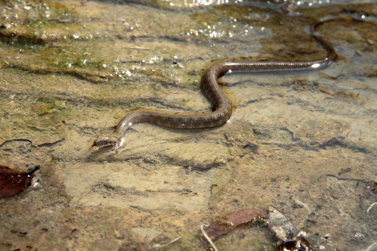
M 181 237 L 164 249 L 201 250 L 201 225 L 268 205 L 307 228 L 313 249 L 376 242 L 376 2 L 288 2 L 0 1 L 0 159 L 41 165 L 39 186 L 0 199 L 0 249 Z M 325 57 L 309 27 L 339 15 L 368 22 L 318 28 L 339 54 L 327 69 L 222 77 L 226 125 L 140 123 L 117 153 L 89 150 L 129 110 L 210 110 L 200 75 L 214 62 Z M 215 244 L 276 250 L 251 226 Z

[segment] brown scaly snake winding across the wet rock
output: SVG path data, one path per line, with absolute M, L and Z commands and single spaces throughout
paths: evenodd
M 337 53 L 333 45 L 325 38 L 317 35 L 316 27 L 325 21 L 339 18 L 329 18 L 316 21 L 311 25 L 311 35 L 328 50 L 324 58 L 312 61 L 225 61 L 216 63 L 204 71 L 201 77 L 201 86 L 207 97 L 213 104 L 213 110 L 198 113 L 170 114 L 159 110 L 141 109 L 128 113 L 116 126 L 113 133 L 100 135 L 95 139 L 92 147 L 112 146 L 116 151 L 123 145 L 124 135 L 127 130 L 138 122 L 151 122 L 160 126 L 194 129 L 217 127 L 227 123 L 232 115 L 232 104 L 221 90 L 218 79 L 225 73 L 230 72 L 274 72 L 289 70 L 313 70 L 329 66 L 337 58 Z

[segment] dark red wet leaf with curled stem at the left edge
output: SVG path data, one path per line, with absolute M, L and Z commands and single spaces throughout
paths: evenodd
M 22 173 L 0 165 L 0 198 L 18 194 L 29 187 L 34 177 L 34 172 L 39 168 L 40 165 L 36 165 L 34 170 Z

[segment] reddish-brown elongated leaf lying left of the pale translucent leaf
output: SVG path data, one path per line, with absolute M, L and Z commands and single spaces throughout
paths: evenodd
M 210 228 L 206 233 L 211 240 L 215 240 L 219 236 L 229 233 L 242 224 L 254 223 L 261 225 L 265 222 L 266 218 L 266 210 L 245 208 L 228 214 L 223 220 L 216 220 L 211 223 Z

